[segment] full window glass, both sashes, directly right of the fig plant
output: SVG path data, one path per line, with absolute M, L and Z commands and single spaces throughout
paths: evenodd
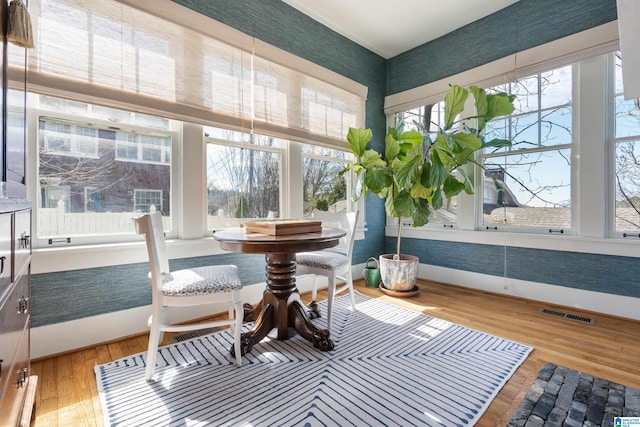
M 571 227 L 572 86 L 567 66 L 488 89 L 512 91 L 516 111 L 485 129 L 513 145 L 483 155 L 483 226 Z

